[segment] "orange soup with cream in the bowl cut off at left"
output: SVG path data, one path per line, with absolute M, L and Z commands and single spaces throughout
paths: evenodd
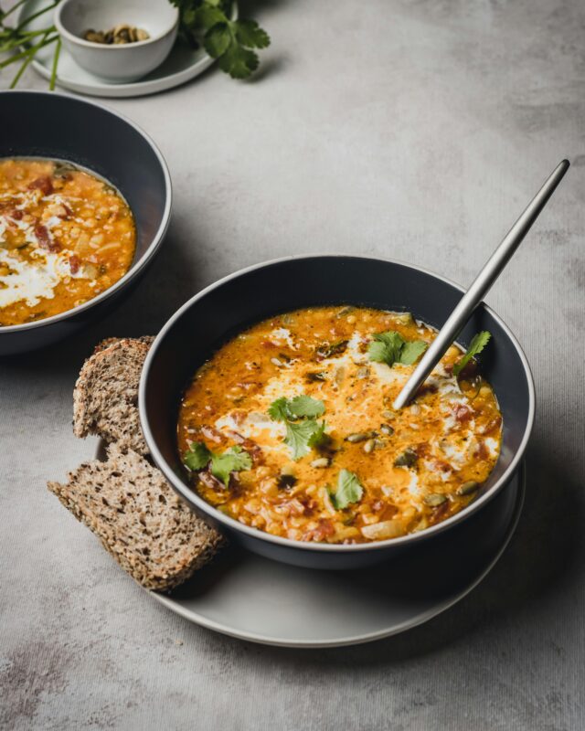
M 72 165 L 0 160 L 0 326 L 63 313 L 130 268 L 130 208 Z

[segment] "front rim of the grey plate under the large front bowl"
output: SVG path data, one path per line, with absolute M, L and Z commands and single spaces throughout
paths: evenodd
M 520 462 L 520 465 L 519 465 L 518 470 L 516 471 L 514 477 L 515 478 L 517 477 L 517 480 L 518 480 L 516 504 L 514 506 L 514 514 L 512 515 L 512 518 L 510 519 L 510 523 L 507 526 L 504 540 L 502 541 L 501 546 L 498 547 L 492 560 L 488 563 L 488 565 L 486 567 L 484 567 L 484 570 L 477 577 L 475 577 L 469 585 L 464 587 L 461 592 L 456 594 L 451 599 L 449 599 L 447 601 L 443 601 L 440 604 L 438 604 L 436 607 L 433 607 L 432 609 L 429 609 L 428 611 L 423 612 L 420 616 L 417 616 L 415 618 L 415 620 L 406 620 L 406 621 L 402 622 L 401 624 L 399 624 L 398 626 L 392 627 L 390 630 L 377 630 L 375 632 L 367 632 L 365 634 L 353 635 L 351 637 L 340 637 L 340 638 L 335 638 L 335 639 L 326 640 L 326 641 L 278 640 L 278 639 L 270 637 L 270 636 L 264 636 L 264 635 L 260 635 L 260 634 L 256 634 L 256 633 L 252 633 L 252 632 L 248 632 L 248 631 L 234 630 L 232 627 L 229 627 L 228 625 L 224 625 L 221 622 L 217 622 L 215 620 L 209 620 L 205 616 L 203 616 L 201 614 L 197 614 L 197 612 L 195 612 L 195 611 L 184 609 L 180 604 L 178 604 L 174 599 L 172 599 L 169 596 L 160 594 L 160 593 L 150 590 L 150 589 L 144 589 L 144 591 L 146 591 L 153 599 L 155 599 L 159 604 L 164 606 L 166 609 L 169 609 L 174 614 L 178 615 L 179 617 L 182 617 L 185 620 L 192 622 L 193 624 L 197 624 L 199 627 L 203 627 L 207 630 L 212 630 L 212 631 L 218 632 L 219 634 L 224 634 L 229 637 L 233 637 L 237 640 L 254 642 L 255 644 L 268 645 L 271 647 L 286 647 L 286 648 L 294 648 L 294 649 L 318 650 L 318 649 L 331 648 L 331 647 L 348 647 L 351 645 L 366 644 L 367 642 L 383 640 L 387 637 L 392 637 L 394 635 L 401 634 L 402 632 L 405 632 L 407 630 L 412 630 L 415 627 L 419 627 L 421 624 L 424 624 L 425 622 L 432 620 L 434 617 L 438 617 L 444 611 L 447 611 L 447 609 L 451 609 L 455 604 L 457 604 L 459 601 L 464 599 L 468 594 L 470 594 L 474 588 L 478 587 L 479 584 L 481 584 L 481 582 L 484 580 L 484 578 L 487 577 L 487 575 L 492 571 L 492 569 L 495 567 L 497 562 L 504 555 L 505 549 L 507 548 L 510 541 L 512 540 L 512 536 L 516 533 L 516 528 L 517 528 L 517 525 L 518 525 L 518 522 L 520 519 L 520 515 L 522 514 L 522 508 L 524 506 L 524 501 L 525 501 L 525 496 L 526 496 L 526 482 L 527 482 L 526 460 L 522 460 Z M 318 570 L 318 569 L 310 569 L 310 570 Z

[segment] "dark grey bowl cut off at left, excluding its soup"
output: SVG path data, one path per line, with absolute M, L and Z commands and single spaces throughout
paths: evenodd
M 13 355 L 75 333 L 131 290 L 165 238 L 171 179 L 162 154 L 142 130 L 89 101 L 51 92 L 2 91 L 0 121 L 0 158 L 48 157 L 89 168 L 122 193 L 137 234 L 133 264 L 109 290 L 46 320 L 0 327 L 0 355 Z

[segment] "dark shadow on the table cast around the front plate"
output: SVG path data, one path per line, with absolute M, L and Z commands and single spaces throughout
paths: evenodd
M 581 488 L 561 457 L 533 441 L 527 452 L 526 502 L 516 535 L 492 573 L 461 603 L 418 628 L 382 641 L 313 651 L 254 646 L 253 652 L 296 667 L 399 662 L 436 652 L 476 628 L 551 599 L 576 576 L 582 553 Z

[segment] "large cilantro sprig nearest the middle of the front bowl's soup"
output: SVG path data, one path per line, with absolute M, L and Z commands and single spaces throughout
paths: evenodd
M 284 443 L 292 450 L 293 460 L 300 460 L 309 450 L 327 440 L 325 422 L 316 421 L 324 410 L 323 401 L 310 396 L 282 397 L 272 401 L 269 416 L 274 421 L 285 423 Z

